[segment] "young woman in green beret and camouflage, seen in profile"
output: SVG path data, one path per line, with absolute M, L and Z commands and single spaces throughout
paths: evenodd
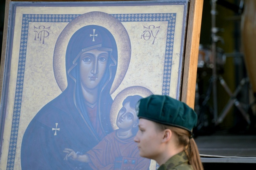
M 140 156 L 154 159 L 158 170 L 203 170 L 192 128 L 197 114 L 169 96 L 151 95 L 136 107 L 139 131 L 134 137 Z

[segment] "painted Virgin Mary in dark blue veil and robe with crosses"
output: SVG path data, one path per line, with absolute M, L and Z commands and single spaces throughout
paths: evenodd
M 90 169 L 64 161 L 64 148 L 84 154 L 112 132 L 109 91 L 117 71 L 117 45 L 108 29 L 87 25 L 76 31 L 66 51 L 67 88 L 47 103 L 24 133 L 24 170 Z

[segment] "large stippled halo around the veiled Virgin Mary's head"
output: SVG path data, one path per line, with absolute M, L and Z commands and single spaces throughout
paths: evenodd
M 78 16 L 67 24 L 59 35 L 53 55 L 53 69 L 56 82 L 62 91 L 67 88 L 65 66 L 67 45 L 71 36 L 78 29 L 86 25 L 99 25 L 108 29 L 117 43 L 117 73 L 110 90 L 110 94 L 112 94 L 122 82 L 129 67 L 131 58 L 131 43 L 124 25 L 122 25 L 122 23 L 119 22 L 115 17 L 99 11 L 89 12 Z

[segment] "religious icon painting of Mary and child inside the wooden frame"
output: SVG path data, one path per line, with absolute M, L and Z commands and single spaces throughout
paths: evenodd
M 188 0 L 10 2 L 1 98 L 7 170 L 156 169 L 136 104 L 180 98 Z

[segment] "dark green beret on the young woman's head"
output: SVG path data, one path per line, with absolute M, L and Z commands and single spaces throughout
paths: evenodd
M 151 95 L 140 99 L 136 105 L 138 118 L 164 125 L 180 127 L 192 132 L 197 125 L 197 114 L 186 103 L 169 96 Z

